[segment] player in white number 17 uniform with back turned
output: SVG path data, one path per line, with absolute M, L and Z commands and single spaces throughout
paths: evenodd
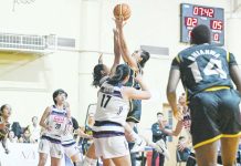
M 95 153 L 102 157 L 104 165 L 130 166 L 129 149 L 125 138 L 126 116 L 129 111 L 129 100 L 148 100 L 150 93 L 140 76 L 136 81 L 142 91 L 124 86 L 129 79 L 129 68 L 120 64 L 115 75 L 103 83 L 98 91 L 93 137 Z

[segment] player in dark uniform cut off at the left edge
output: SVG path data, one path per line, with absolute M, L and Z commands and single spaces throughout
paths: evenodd
M 9 104 L 4 104 L 0 108 L 0 142 L 6 151 L 6 154 L 9 154 L 7 138 L 10 131 L 9 117 L 11 115 L 11 110 L 12 108 Z

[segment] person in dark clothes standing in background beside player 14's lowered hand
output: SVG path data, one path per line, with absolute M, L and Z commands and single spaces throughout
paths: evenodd
M 167 134 L 161 132 L 159 128 L 159 123 L 164 122 L 164 114 L 163 113 L 157 113 L 157 122 L 153 124 L 151 126 L 151 132 L 153 132 L 153 142 L 156 143 L 160 139 L 164 139 L 164 142 L 166 143 L 167 141 Z M 166 128 L 168 128 L 166 126 Z M 159 166 L 164 166 L 165 163 L 165 155 L 164 154 L 159 154 L 157 151 L 153 151 L 153 159 L 151 159 L 151 166 L 156 166 L 156 159 L 159 155 Z

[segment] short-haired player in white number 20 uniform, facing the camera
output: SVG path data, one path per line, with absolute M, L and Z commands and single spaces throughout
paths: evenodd
M 63 157 L 62 136 L 70 122 L 70 111 L 64 106 L 67 93 L 56 90 L 53 93 L 54 105 L 48 106 L 41 117 L 40 126 L 44 128 L 39 144 L 39 166 L 44 166 L 48 155 L 51 166 L 60 166 Z

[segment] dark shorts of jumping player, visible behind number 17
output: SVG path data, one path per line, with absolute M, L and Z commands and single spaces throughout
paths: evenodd
M 127 115 L 126 122 L 139 123 L 142 115 L 142 100 L 132 100 L 130 110 Z

